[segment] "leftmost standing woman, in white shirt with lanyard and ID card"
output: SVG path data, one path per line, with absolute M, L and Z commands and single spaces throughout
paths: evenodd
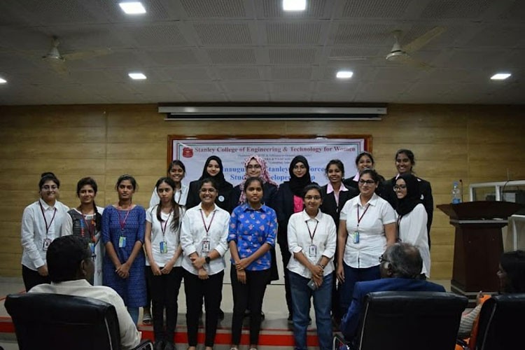
M 38 182 L 40 198 L 29 204 L 22 214 L 22 279 L 25 290 L 41 283 L 50 283 L 45 252 L 55 237 L 69 210 L 57 200 L 60 181 L 51 172 L 41 175 Z

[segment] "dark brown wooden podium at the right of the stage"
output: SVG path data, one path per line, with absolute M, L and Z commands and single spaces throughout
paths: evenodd
M 496 293 L 499 290 L 499 259 L 503 253 L 501 228 L 507 218 L 521 209 L 512 202 L 464 202 L 440 204 L 456 228 L 454 267 L 450 281 L 454 293 L 475 300 L 479 290 Z

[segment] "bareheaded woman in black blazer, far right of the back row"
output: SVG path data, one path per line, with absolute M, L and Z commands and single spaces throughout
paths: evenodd
M 416 161 L 414 160 L 414 153 L 407 149 L 400 149 L 395 153 L 395 167 L 398 169 L 398 174 L 392 179 L 388 179 L 383 183 L 383 190 L 381 191 L 380 196 L 383 197 L 393 208 L 398 206 L 398 197 L 396 197 L 393 186 L 395 185 L 395 180 L 398 179 L 400 174 L 414 174 L 414 165 Z M 430 248 L 430 225 L 432 225 L 432 218 L 434 213 L 434 199 L 432 197 L 432 187 L 430 182 L 423 180 L 416 176 L 417 182 L 419 183 L 419 193 L 421 193 L 421 202 L 423 207 L 425 207 L 426 214 L 428 216 L 428 221 L 426 223 L 426 228 L 428 232 L 428 248 Z

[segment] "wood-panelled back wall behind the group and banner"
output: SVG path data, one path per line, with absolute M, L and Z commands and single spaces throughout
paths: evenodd
M 450 201 L 451 184 L 525 179 L 525 113 L 512 106 L 391 105 L 381 121 L 165 121 L 153 105 L 0 106 L 0 276 L 20 275 L 20 219 L 38 197 L 41 172 L 62 181 L 60 200 L 74 207 L 76 182 L 93 176 L 97 204 L 116 202 L 121 174 L 136 177 L 134 202 L 147 207 L 166 174 L 167 135 L 371 134 L 376 169 L 390 178 L 394 155 L 409 148 L 416 174 L 432 183 L 435 205 Z M 241 164 L 239 159 L 239 164 Z M 507 170 L 508 169 L 508 170 Z M 353 174 L 346 174 L 352 176 Z M 449 279 L 454 228 L 435 209 L 432 277 Z

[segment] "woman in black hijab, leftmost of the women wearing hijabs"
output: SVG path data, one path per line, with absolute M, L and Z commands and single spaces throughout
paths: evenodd
M 190 182 L 188 200 L 186 200 L 186 209 L 196 207 L 200 203 L 200 182 L 204 179 L 210 178 L 215 181 L 218 190 L 215 204 L 231 214 L 232 208 L 230 208 L 230 194 L 232 192 L 233 186 L 224 179 L 223 169 L 223 161 L 216 155 L 211 155 L 206 160 L 200 178 Z

